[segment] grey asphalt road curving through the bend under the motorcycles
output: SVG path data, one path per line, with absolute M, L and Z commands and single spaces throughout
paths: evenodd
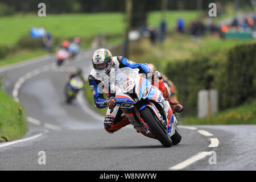
M 87 77 L 92 69 L 92 53 L 93 50 L 80 53 L 61 69 L 55 68 L 54 55 L 0 68 L 0 75 L 6 74 L 3 89 L 13 96 L 18 86 L 16 97 L 28 117 L 34 118 L 22 138 L 28 140 L 0 144 L 0 170 L 256 169 L 255 125 L 180 126 L 180 144 L 163 148 L 158 140 L 136 133 L 131 126 L 107 133 L 103 117 L 82 95 L 72 105 L 65 104 L 65 76 L 80 67 Z M 38 134 L 41 135 L 29 139 Z M 46 152 L 45 165 L 38 164 L 39 151 Z M 209 164 L 213 155 L 197 157 L 212 151 L 216 152 L 217 164 Z

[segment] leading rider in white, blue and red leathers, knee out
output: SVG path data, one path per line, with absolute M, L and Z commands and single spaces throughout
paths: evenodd
M 176 112 L 181 112 L 183 110 L 183 106 L 179 103 L 174 101 L 170 94 L 167 91 L 167 88 L 164 86 L 163 78 L 159 72 L 153 72 L 148 65 L 141 64 L 141 63 L 134 63 L 133 61 L 127 60 L 125 57 L 122 56 L 112 56 L 108 49 L 98 49 L 93 53 L 92 56 L 92 64 L 93 69 L 88 76 L 88 81 L 90 85 L 90 89 L 94 96 L 94 103 L 98 108 L 109 107 L 106 113 L 106 117 L 104 119 L 104 127 L 105 130 L 109 133 L 113 133 L 129 125 L 129 119 L 125 116 L 122 116 L 122 110 L 119 109 L 119 106 L 115 104 L 115 93 L 110 92 L 110 88 L 104 88 L 105 92 L 107 92 L 109 98 L 104 98 L 102 92 L 100 92 L 101 86 L 101 78 L 100 75 L 106 74 L 110 75 L 110 72 L 113 72 L 117 69 L 123 67 L 130 67 L 130 68 L 138 68 L 139 73 L 145 73 L 147 77 L 152 77 L 152 85 L 156 86 L 159 85 L 159 90 L 163 93 L 163 96 L 168 102 L 170 103 L 172 109 Z M 112 110 L 113 109 L 113 110 Z M 147 137 L 146 133 L 143 131 L 138 131 Z

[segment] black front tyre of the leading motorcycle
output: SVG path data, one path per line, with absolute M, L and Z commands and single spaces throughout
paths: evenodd
M 156 118 L 151 113 L 150 108 L 144 107 L 144 109 L 142 109 L 140 113 L 143 120 L 150 127 L 150 130 L 153 133 L 154 137 L 158 139 L 159 142 L 162 143 L 164 147 L 171 147 L 172 140 L 168 137 L 167 133 L 164 132 L 163 128 L 159 125 L 158 121 L 156 121 Z

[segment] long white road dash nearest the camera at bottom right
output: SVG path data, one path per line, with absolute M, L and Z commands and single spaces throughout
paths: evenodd
M 169 170 L 180 170 L 180 169 L 184 169 L 185 167 L 191 165 L 192 163 L 197 162 L 200 159 L 205 158 L 207 155 L 210 155 L 212 152 L 199 152 L 196 155 L 192 156 L 192 158 L 189 158 L 187 160 L 185 160 L 184 162 L 181 162 L 175 166 L 172 166 L 170 168 L 168 168 Z

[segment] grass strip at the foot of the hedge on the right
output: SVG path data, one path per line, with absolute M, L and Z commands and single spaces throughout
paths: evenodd
M 206 118 L 185 117 L 181 119 L 183 125 L 255 125 L 256 99 L 238 107 Z

